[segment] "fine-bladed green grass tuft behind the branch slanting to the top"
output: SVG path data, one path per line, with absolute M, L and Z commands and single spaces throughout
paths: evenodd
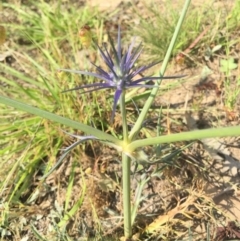
M 163 8 L 161 14 L 159 14 L 159 8 Z M 144 10 L 147 11 L 147 18 L 138 16 L 140 24 L 135 28 L 135 32 L 143 39 L 147 58 L 163 59 L 180 16 L 179 8 L 167 1 L 161 6 L 157 3 L 146 4 Z M 172 56 L 187 48 L 207 23 L 214 23 L 216 16 L 213 12 L 214 10 L 209 6 L 190 8 L 183 23 L 184 30 L 179 33 Z M 138 10 L 136 13 L 138 14 Z M 201 42 L 206 40 L 205 37 Z

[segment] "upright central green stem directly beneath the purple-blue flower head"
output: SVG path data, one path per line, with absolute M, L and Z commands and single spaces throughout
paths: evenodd
M 125 91 L 120 97 L 120 108 L 122 114 L 122 127 L 123 127 L 123 142 L 128 145 L 128 125 L 127 115 L 125 108 Z M 123 152 L 122 153 L 122 175 L 123 175 L 123 218 L 124 218 L 124 236 L 130 238 L 132 236 L 131 224 L 131 159 Z

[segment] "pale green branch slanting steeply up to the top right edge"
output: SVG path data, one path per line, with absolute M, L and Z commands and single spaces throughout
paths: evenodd
M 177 26 L 175 28 L 175 31 L 174 31 L 174 34 L 173 34 L 173 37 L 172 37 L 172 40 L 171 40 L 170 45 L 168 47 L 167 53 L 166 53 L 166 55 L 164 57 L 163 64 L 161 66 L 160 73 L 159 73 L 160 76 L 163 76 L 164 73 L 165 73 L 165 70 L 167 68 L 169 59 L 171 57 L 171 53 L 172 53 L 173 47 L 174 47 L 174 45 L 176 43 L 176 40 L 177 40 L 179 31 L 180 31 L 180 28 L 182 26 L 183 20 L 185 18 L 186 13 L 187 13 L 188 6 L 189 6 L 190 2 L 191 2 L 191 0 L 186 0 L 185 1 L 182 13 L 180 15 L 180 18 L 178 20 Z M 158 80 L 156 82 L 156 84 L 158 86 L 160 86 L 161 79 Z M 146 117 L 146 115 L 148 113 L 148 110 L 150 109 L 154 99 L 156 98 L 157 92 L 158 92 L 158 88 L 153 88 L 152 89 L 151 94 L 149 95 L 149 97 L 148 97 L 148 99 L 147 99 L 147 101 L 146 101 L 146 103 L 145 103 L 145 105 L 144 105 L 144 107 L 143 107 L 143 109 L 142 109 L 142 111 L 141 111 L 141 113 L 140 113 L 140 115 L 139 115 L 139 117 L 138 117 L 134 127 L 132 128 L 132 130 L 131 130 L 131 132 L 129 134 L 129 140 L 130 141 L 134 140 L 134 137 L 137 136 L 137 134 L 139 133 L 139 131 L 141 129 L 141 126 L 142 126 L 142 123 L 143 123 L 143 121 L 144 121 L 144 119 L 145 119 L 145 117 Z

